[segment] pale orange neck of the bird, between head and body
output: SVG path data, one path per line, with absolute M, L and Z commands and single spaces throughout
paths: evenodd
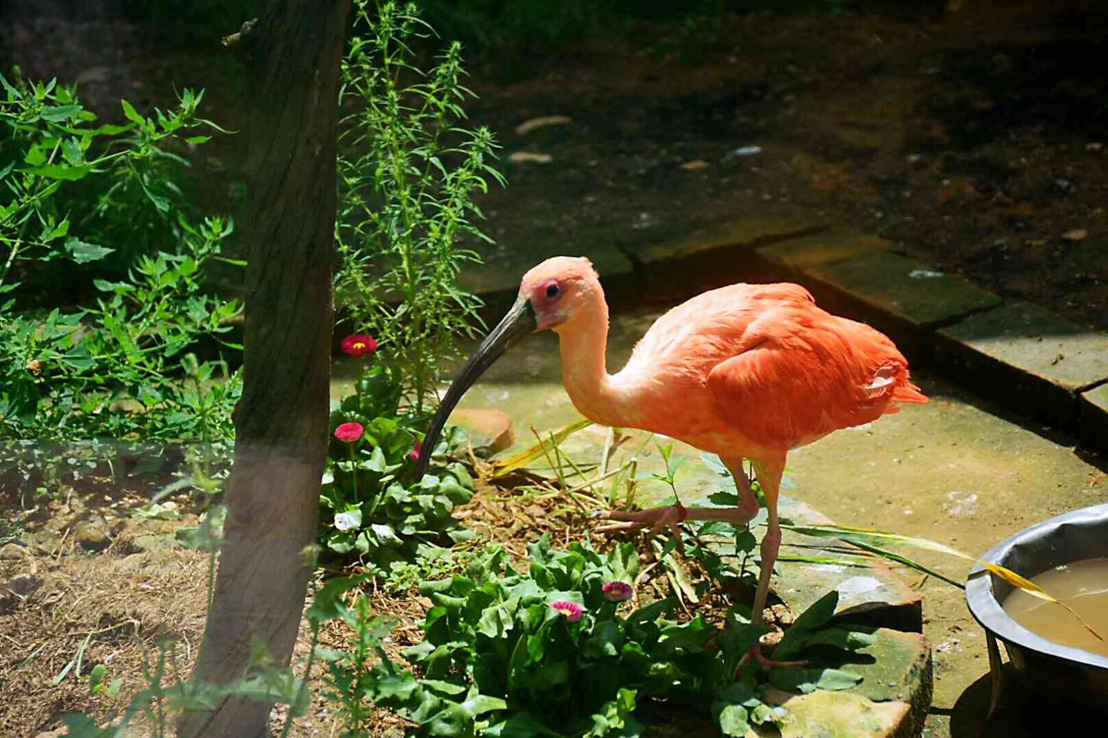
M 572 325 L 555 329 L 562 352 L 562 383 L 581 414 L 605 426 L 618 424 L 619 396 L 611 382 L 605 352 L 608 345 L 608 306 L 581 310 Z

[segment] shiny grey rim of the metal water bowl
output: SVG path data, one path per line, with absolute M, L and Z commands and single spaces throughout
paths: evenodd
M 1038 533 L 1047 529 L 1058 527 L 1065 523 L 1087 522 L 1092 520 L 1108 520 L 1108 503 L 1074 510 L 1068 513 L 1063 513 L 1061 515 L 1048 517 L 1047 520 L 1036 523 L 1030 527 L 1025 527 L 1018 533 L 1005 539 L 989 549 L 985 555 L 982 556 L 982 560 L 992 564 L 997 564 L 1005 557 L 1013 545 L 1034 533 Z M 1004 612 L 1003 607 L 1001 607 L 1001 603 L 997 602 L 993 592 L 993 576 L 987 574 L 987 570 L 981 564 L 974 564 L 973 568 L 970 570 L 970 574 L 966 578 L 965 594 L 966 604 L 970 606 L 970 614 L 973 615 L 974 619 L 977 621 L 977 623 L 985 628 L 986 632 L 995 634 L 996 637 L 1001 638 L 1001 640 L 1004 640 L 1005 643 L 1013 643 L 1022 648 L 1033 650 L 1044 656 L 1050 656 L 1068 662 L 1075 662 L 1083 666 L 1108 670 L 1108 656 L 1100 656 L 1098 654 L 1087 652 L 1084 648 L 1074 648 L 1073 646 L 1064 646 L 1061 644 L 1054 643 L 1053 640 L 1048 640 L 1043 636 L 1028 631 L 1008 617 L 1008 614 Z

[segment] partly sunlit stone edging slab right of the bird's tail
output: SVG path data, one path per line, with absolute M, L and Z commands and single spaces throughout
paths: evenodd
M 1108 335 L 1009 303 L 940 329 L 935 361 L 983 394 L 1018 398 L 1024 412 L 1071 428 L 1078 393 L 1108 380 Z

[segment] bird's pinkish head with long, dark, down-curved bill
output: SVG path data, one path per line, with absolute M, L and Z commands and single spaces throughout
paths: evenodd
M 597 295 L 602 295 L 601 283 L 586 258 L 555 256 L 523 275 L 515 304 L 481 341 L 442 398 L 416 462 L 417 479 L 427 472 L 439 433 L 465 390 L 521 338 L 536 330 L 557 331 Z

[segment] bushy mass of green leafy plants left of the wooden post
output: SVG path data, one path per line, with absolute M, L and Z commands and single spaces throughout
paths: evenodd
M 94 125 L 73 88 L 18 73 L 0 86 L 0 435 L 35 444 L 7 444 L 0 471 L 47 491 L 119 442 L 229 438 L 238 379 L 196 352 L 240 350 L 220 339 L 239 305 L 204 281 L 211 263 L 242 263 L 220 255 L 230 221 L 197 219 L 174 178 L 187 162 L 173 148 L 222 131 L 197 115 L 203 92 L 153 116 L 121 101 L 126 123 Z M 16 277 L 63 265 L 85 307 L 14 310 L 33 295 Z

